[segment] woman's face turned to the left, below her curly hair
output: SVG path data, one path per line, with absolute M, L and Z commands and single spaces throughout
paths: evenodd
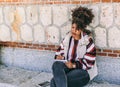
M 75 23 L 72 24 L 71 34 L 73 38 L 80 38 L 81 36 L 81 30 L 77 29 L 77 25 Z

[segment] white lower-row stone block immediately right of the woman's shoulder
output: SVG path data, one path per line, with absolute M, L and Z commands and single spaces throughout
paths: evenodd
M 106 29 L 97 27 L 95 28 L 95 44 L 98 47 L 106 47 L 107 40 L 106 40 Z

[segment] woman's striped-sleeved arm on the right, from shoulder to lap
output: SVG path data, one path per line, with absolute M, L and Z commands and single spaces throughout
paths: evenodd
M 86 53 L 84 57 L 76 61 L 76 68 L 88 70 L 93 67 L 96 59 L 96 48 L 92 38 L 89 38 L 89 43 L 86 46 Z

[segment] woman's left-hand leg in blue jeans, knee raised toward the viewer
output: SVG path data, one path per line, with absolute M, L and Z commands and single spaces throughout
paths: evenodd
M 66 65 L 63 62 L 56 61 L 53 63 L 53 76 L 56 87 L 67 87 L 67 77 L 65 70 Z

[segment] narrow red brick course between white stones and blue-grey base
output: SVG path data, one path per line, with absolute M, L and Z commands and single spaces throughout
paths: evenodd
M 12 47 L 12 48 L 29 48 L 29 49 L 36 49 L 36 50 L 49 50 L 49 51 L 56 51 L 59 45 L 45 45 L 45 44 L 33 44 L 33 43 L 19 43 L 19 42 L 0 42 L 2 47 Z M 120 57 L 120 50 L 119 49 L 96 49 L 98 56 L 107 56 L 113 58 Z

